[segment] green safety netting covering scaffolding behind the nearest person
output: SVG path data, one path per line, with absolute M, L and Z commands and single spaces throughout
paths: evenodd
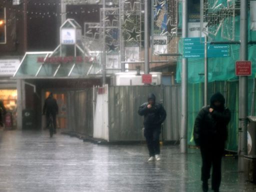
M 226 0 L 214 0 L 216 5 L 220 3 L 226 3 Z M 213 2 L 213 1 L 212 1 Z M 179 4 L 181 6 L 181 4 Z M 223 4 L 226 5 L 226 4 Z M 227 6 L 227 5 L 226 5 Z M 179 10 L 181 8 L 179 7 Z M 179 20 L 182 20 L 179 17 Z M 229 19 L 229 18 L 226 18 Z M 236 15 L 234 17 L 235 25 L 235 38 L 237 41 L 240 39 L 240 17 Z M 225 20 L 223 21 L 223 23 Z M 180 24 L 179 24 L 180 25 Z M 180 25 L 181 26 L 181 25 Z M 256 31 L 251 31 L 250 15 L 248 12 L 248 41 L 256 40 Z M 221 31 L 218 31 L 216 35 L 210 35 L 209 39 L 214 41 L 227 41 L 221 37 Z M 182 52 L 181 40 L 179 42 L 179 52 Z M 254 115 L 255 111 L 251 111 L 253 104 L 253 78 L 256 74 L 256 44 L 248 44 L 248 60 L 252 63 L 252 75 L 248 79 L 248 115 Z M 235 76 L 235 61 L 239 59 L 240 45 L 230 44 L 230 57 L 215 57 L 208 58 L 208 101 L 210 96 L 220 91 L 226 98 L 226 106 L 231 110 L 231 121 L 228 125 L 228 141 L 226 143 L 226 149 L 230 151 L 237 151 L 238 145 L 238 78 Z M 181 82 L 181 59 L 180 56 L 177 59 L 176 68 L 176 81 Z M 188 58 L 188 144 L 194 145 L 193 142 L 193 124 L 194 119 L 198 111 L 203 106 L 203 93 L 204 93 L 204 58 Z M 254 103 L 255 105 L 255 103 Z M 255 107 L 256 108 L 256 107 Z M 256 114 L 256 113 L 255 113 Z

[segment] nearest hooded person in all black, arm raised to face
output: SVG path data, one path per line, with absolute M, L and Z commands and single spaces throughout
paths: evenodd
M 219 191 L 221 181 L 221 157 L 227 139 L 227 124 L 230 110 L 224 106 L 225 99 L 220 92 L 210 98 L 210 105 L 203 107 L 195 118 L 193 137 L 200 147 L 202 157 L 202 190 L 208 191 L 208 179 L 212 165 L 211 188 Z

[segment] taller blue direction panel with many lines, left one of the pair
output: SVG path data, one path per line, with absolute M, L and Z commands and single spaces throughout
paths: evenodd
M 204 37 L 182 38 L 182 57 L 204 57 Z

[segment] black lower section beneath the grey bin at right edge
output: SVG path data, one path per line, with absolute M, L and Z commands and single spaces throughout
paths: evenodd
M 244 155 L 244 164 L 247 180 L 256 183 L 256 155 Z

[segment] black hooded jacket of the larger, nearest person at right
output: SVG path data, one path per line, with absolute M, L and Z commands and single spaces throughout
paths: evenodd
M 214 105 L 218 100 L 219 107 Z M 194 122 L 193 137 L 196 145 L 209 142 L 223 143 L 227 139 L 227 124 L 230 121 L 230 110 L 224 107 L 224 97 L 219 92 L 212 95 L 210 105 L 203 107 L 197 114 Z M 209 108 L 213 108 L 209 112 Z

